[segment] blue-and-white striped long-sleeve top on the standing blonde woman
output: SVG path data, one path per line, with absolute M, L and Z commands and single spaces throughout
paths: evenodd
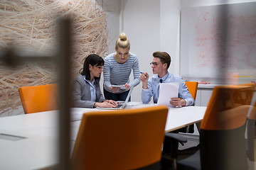
M 114 60 L 114 55 L 116 52 L 107 55 L 105 57 L 105 64 L 103 67 L 103 75 L 104 75 L 104 88 L 107 91 L 110 91 L 110 87 L 112 85 L 124 85 L 128 83 L 130 86 L 137 86 L 140 82 L 139 77 L 139 60 L 138 57 L 131 52 L 129 52 L 129 58 L 127 62 L 119 64 Z M 133 72 L 134 80 L 129 82 L 129 76 Z M 117 94 L 120 94 L 126 89 L 119 89 Z M 113 93 L 113 92 L 112 92 Z

